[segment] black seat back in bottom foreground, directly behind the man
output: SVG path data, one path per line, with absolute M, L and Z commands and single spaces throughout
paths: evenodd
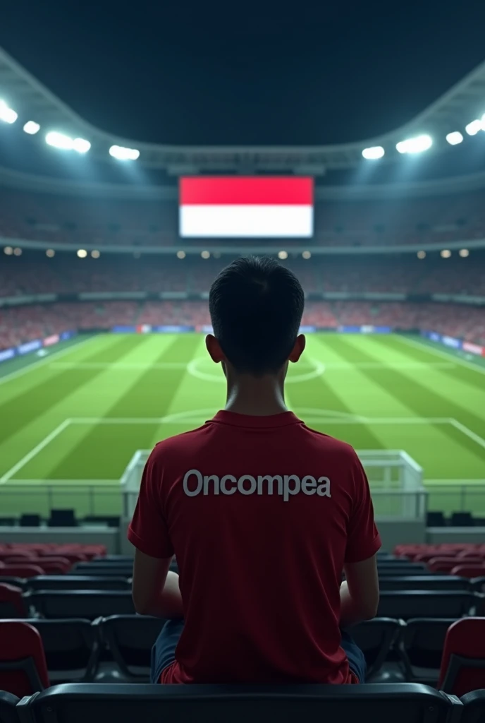
M 458 703 L 424 685 L 57 685 L 19 703 L 35 723 L 445 723 Z M 461 707 L 461 706 L 460 706 Z M 25 715 L 27 714 L 27 715 Z

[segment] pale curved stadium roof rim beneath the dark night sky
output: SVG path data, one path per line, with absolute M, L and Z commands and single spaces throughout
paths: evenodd
M 313 147 L 191 147 L 141 143 L 117 137 L 82 119 L 41 84 L 30 72 L 0 48 L 1 96 L 23 123 L 33 120 L 43 132 L 58 131 L 81 137 L 91 144 L 91 157 L 108 161 L 113 145 L 139 150 L 138 163 L 160 168 L 168 174 L 200 172 L 325 174 L 327 170 L 353 168 L 362 163 L 365 147 L 383 146 L 385 160 L 398 158 L 396 144 L 416 134 L 429 134 L 431 153 L 449 147 L 450 132 L 464 132 L 466 125 L 485 113 L 485 62 L 466 75 L 418 116 L 394 131 L 361 142 Z M 478 122 L 478 121 L 477 121 Z

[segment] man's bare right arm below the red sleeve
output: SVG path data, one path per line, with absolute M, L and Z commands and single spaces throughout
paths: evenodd
M 379 578 L 375 555 L 362 562 L 347 562 L 344 565 L 344 572 L 346 580 L 340 588 L 341 628 L 375 617 L 379 604 Z

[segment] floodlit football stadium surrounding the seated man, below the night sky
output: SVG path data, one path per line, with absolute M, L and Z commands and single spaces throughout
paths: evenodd
M 0 620 L 1 723 L 134 703 L 147 720 L 483 719 L 484 84 L 485 63 L 365 141 L 162 145 L 101 129 L 0 48 L 0 619 L 38 630 Z M 150 450 L 224 408 L 209 290 L 248 256 L 305 292 L 287 408 L 370 482 L 381 596 L 352 628 L 369 685 L 351 694 L 140 685 L 163 621 L 134 615 L 126 531 Z

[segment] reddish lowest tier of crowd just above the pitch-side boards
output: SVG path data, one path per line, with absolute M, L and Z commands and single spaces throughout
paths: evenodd
M 485 345 L 485 312 L 461 304 L 307 301 L 302 323 L 323 328 L 381 325 L 426 329 Z M 86 301 L 0 308 L 0 348 L 69 329 L 210 324 L 206 301 Z

